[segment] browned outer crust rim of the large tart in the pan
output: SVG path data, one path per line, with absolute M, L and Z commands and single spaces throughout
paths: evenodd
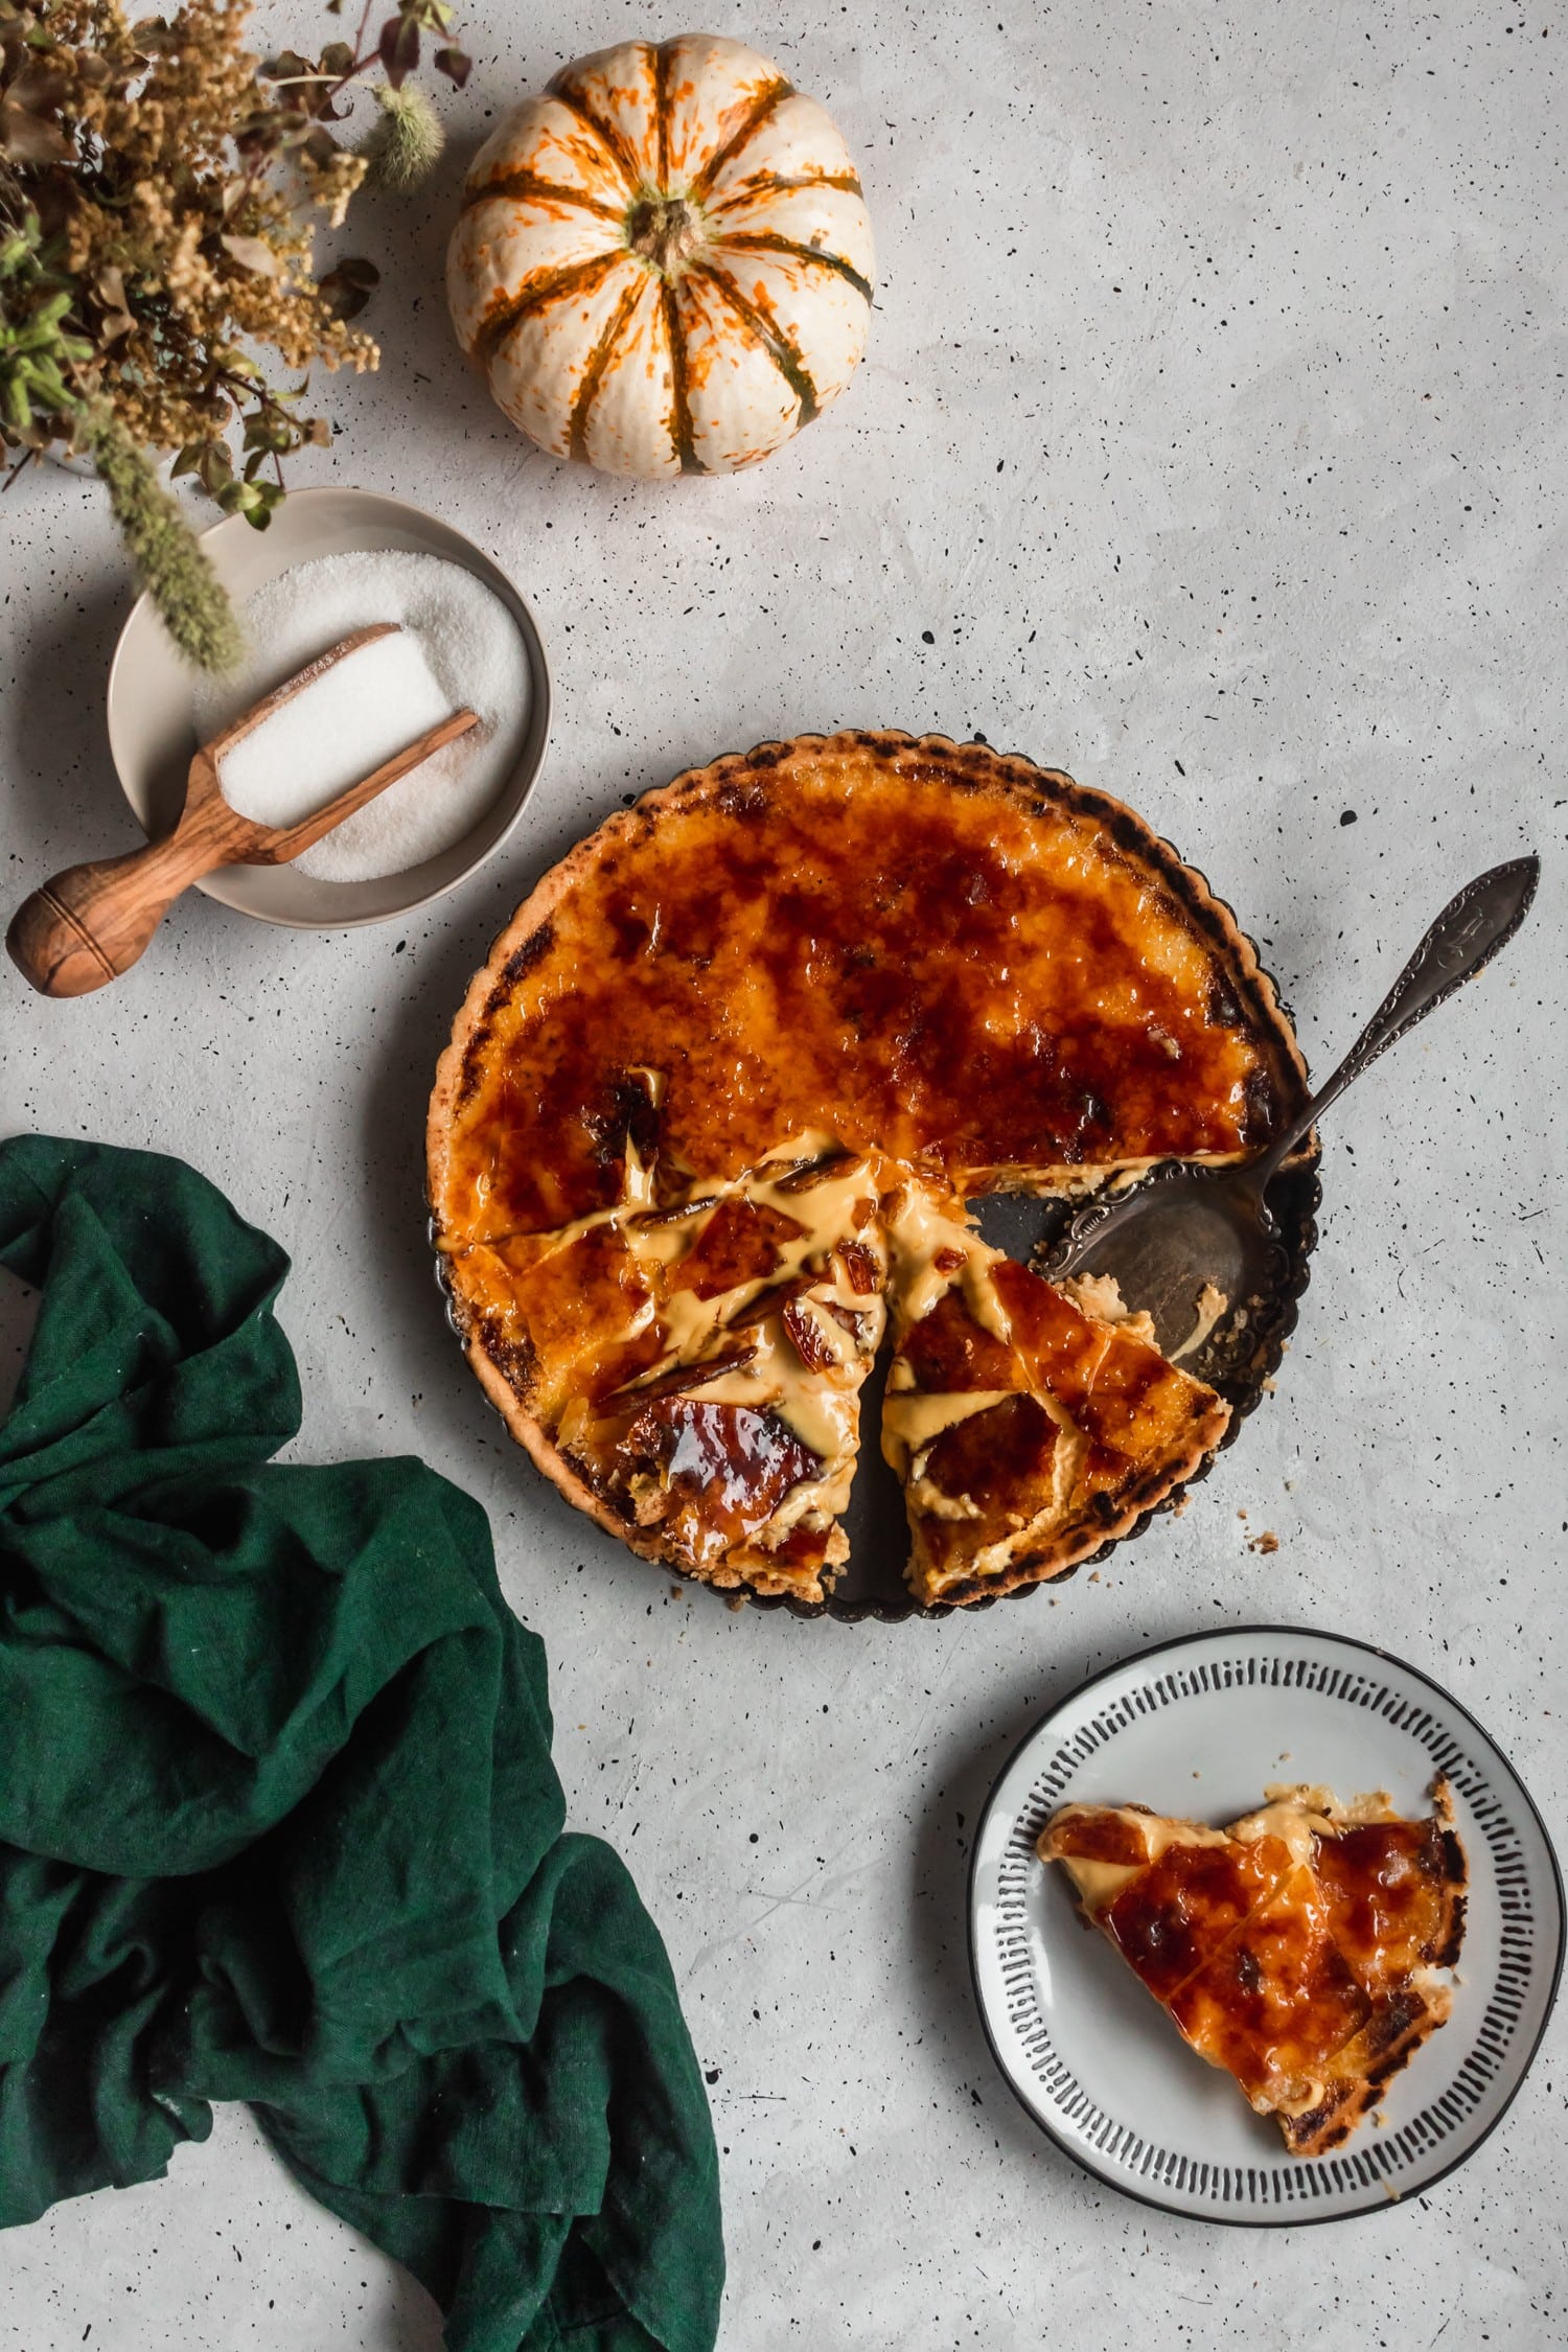
M 576 842 L 564 858 L 541 875 L 512 920 L 496 936 L 451 1023 L 451 1040 L 435 1065 L 435 1087 L 430 1091 L 430 1108 L 425 1115 L 425 1197 L 433 1214 L 433 1240 L 442 1258 L 447 1256 L 440 1242 L 442 1197 L 449 1171 L 451 1120 L 461 1105 L 463 1091 L 463 1065 L 475 1035 L 484 1023 L 487 1007 L 505 978 L 505 967 L 522 955 L 531 941 L 545 934 L 555 908 L 578 887 L 592 866 L 597 866 L 607 854 L 644 840 L 665 809 L 684 807 L 686 802 L 703 797 L 717 797 L 724 790 L 738 790 L 748 781 L 762 783 L 771 779 L 773 771 L 790 757 L 802 753 L 846 750 L 872 750 L 886 757 L 910 753 L 924 755 L 933 764 L 940 764 L 943 783 L 957 783 L 961 790 L 992 790 L 999 797 L 1011 800 L 1025 814 L 1041 814 L 1046 804 L 1058 802 L 1070 807 L 1074 814 L 1105 826 L 1124 856 L 1138 858 L 1143 866 L 1152 868 L 1159 882 L 1171 889 L 1178 906 L 1197 922 L 1199 931 L 1208 938 L 1237 981 L 1244 1009 L 1253 1014 L 1255 1023 L 1272 1040 L 1279 1056 L 1274 1070 L 1276 1080 L 1286 1089 L 1295 1084 L 1298 1096 L 1305 1098 L 1307 1065 L 1295 1042 L 1295 1030 L 1279 1002 L 1274 981 L 1258 962 L 1258 950 L 1251 938 L 1241 931 L 1225 901 L 1215 898 L 1208 889 L 1204 875 L 1187 866 L 1175 854 L 1171 842 L 1154 833 L 1154 828 L 1128 809 L 1126 802 L 1114 800 L 1110 793 L 1077 783 L 1065 774 L 1065 769 L 1037 767 L 1037 762 L 1027 760 L 1023 753 L 997 753 L 990 743 L 957 743 L 952 736 L 940 734 L 910 736 L 900 729 L 860 727 L 839 729 L 827 736 L 802 734 L 790 736 L 788 741 L 757 743 L 748 753 L 724 753 L 719 760 L 708 762 L 708 767 L 684 769 L 670 783 L 644 793 L 635 807 L 616 809 L 590 835 Z M 548 953 L 548 941 L 541 953 Z M 527 969 L 527 964 L 522 969 Z M 449 1282 L 447 1289 L 451 1296 Z M 543 1425 L 517 1397 L 517 1390 L 491 1359 L 477 1331 L 463 1331 L 463 1350 L 480 1376 L 484 1395 L 505 1421 L 510 1435 L 527 1449 L 536 1468 L 543 1470 L 543 1475 L 567 1496 L 569 1503 L 583 1510 L 597 1526 L 607 1529 L 607 1534 L 618 1536 L 639 1557 L 663 1562 L 682 1576 L 691 1576 L 689 1564 L 675 1559 L 668 1545 L 661 1545 L 658 1538 L 644 1536 L 642 1529 L 628 1526 L 625 1519 L 607 1510 L 602 1498 L 592 1494 L 571 1463 L 545 1437 Z M 1145 1496 L 1135 1505 L 1126 1505 L 1110 1524 L 1095 1522 L 1095 1526 L 1084 1529 L 1079 1538 L 1070 1534 L 1063 1536 L 1051 1552 L 1044 1555 L 1051 1562 L 1048 1566 L 1041 1566 L 1039 1562 L 1018 1562 L 997 1578 L 971 1578 L 969 1585 L 950 1585 L 945 1592 L 933 1597 L 922 1595 L 922 1602 L 926 1606 L 964 1606 L 976 1599 L 1001 1597 L 1004 1592 L 1013 1592 L 1023 1585 L 1048 1583 L 1056 1576 L 1065 1576 L 1093 1552 L 1117 1543 L 1121 1536 L 1128 1536 L 1159 1501 L 1175 1494 L 1199 1472 L 1225 1435 L 1229 1406 L 1218 1406 L 1218 1416 L 1213 1435 L 1204 1444 L 1194 1442 L 1190 1454 L 1182 1456 L 1180 1470 L 1164 1482 L 1159 1496 Z M 698 1581 L 712 1583 L 712 1578 Z M 823 1599 L 818 1576 L 780 1576 L 778 1581 L 769 1578 L 766 1583 L 745 1578 L 741 1590 L 780 1592 L 799 1602 Z

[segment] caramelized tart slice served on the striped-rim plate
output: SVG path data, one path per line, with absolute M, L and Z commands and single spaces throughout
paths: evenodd
M 1448 2018 L 1465 1933 L 1465 1851 L 1434 1811 L 1340 1806 L 1276 1788 L 1211 1830 L 1138 1804 L 1063 1806 L 1039 1837 L 1192 2049 L 1229 2072 L 1286 2147 L 1338 2147 Z

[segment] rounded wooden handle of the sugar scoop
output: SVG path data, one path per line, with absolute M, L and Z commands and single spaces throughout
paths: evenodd
M 5 946 L 45 997 L 85 997 L 129 971 L 174 898 L 221 863 L 209 835 L 172 835 L 122 858 L 68 866 L 21 901 Z

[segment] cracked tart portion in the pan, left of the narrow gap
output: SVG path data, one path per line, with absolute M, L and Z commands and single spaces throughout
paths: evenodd
M 482 1378 L 529 1395 L 557 1484 L 635 1550 L 820 1599 L 886 1317 L 875 1174 L 802 1136 L 670 1207 L 625 1192 L 470 1244 Z

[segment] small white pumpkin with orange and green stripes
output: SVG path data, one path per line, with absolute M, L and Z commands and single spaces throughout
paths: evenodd
M 738 40 L 581 56 L 475 158 L 447 254 L 463 350 L 555 456 L 755 466 L 865 350 L 872 230 L 844 139 Z

